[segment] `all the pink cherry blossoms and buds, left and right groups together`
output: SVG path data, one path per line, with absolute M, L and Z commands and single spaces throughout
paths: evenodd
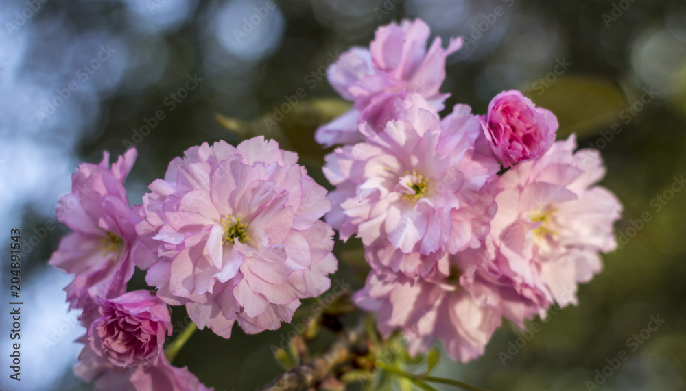
M 484 115 L 458 104 L 441 118 L 462 40 L 429 36 L 422 21 L 392 23 L 329 68 L 353 106 L 315 135 L 339 145 L 323 168 L 328 194 L 263 136 L 188 149 L 141 205 L 124 187 L 136 149 L 79 166 L 57 208 L 72 232 L 49 260 L 74 275 L 67 301 L 87 330 L 76 373 L 99 390 L 209 390 L 167 360 L 168 306 L 224 338 L 235 323 L 278 329 L 329 289 L 334 229 L 362 240 L 371 267 L 354 303 L 412 354 L 440 340 L 466 362 L 503 318 L 523 328 L 576 304 L 578 283 L 617 247 L 622 205 L 598 186 L 600 154 L 576 151 L 574 135 L 556 141 L 554 114 L 514 90 Z M 150 290 L 127 292 L 136 268 Z

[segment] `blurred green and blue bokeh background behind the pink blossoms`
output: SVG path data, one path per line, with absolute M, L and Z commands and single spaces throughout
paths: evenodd
M 523 90 L 557 114 L 558 139 L 576 132 L 580 147 L 601 151 L 602 184 L 624 204 L 621 247 L 580 287 L 577 307 L 536 319 L 528 338 L 505 324 L 483 357 L 443 358 L 436 375 L 489 390 L 686 390 L 686 191 L 677 191 L 686 175 L 684 1 L 279 0 L 266 14 L 262 0 L 36 3 L 33 12 L 25 12 L 31 1 L 0 8 L 7 30 L 0 31 L 1 229 L 7 237 L 12 227 L 26 240 L 38 236 L 22 270 L 24 379 L 20 386 L 0 379 L 0 386 L 90 389 L 72 373 L 80 351 L 72 340 L 84 330 L 64 304 L 69 277 L 47 265 L 67 230 L 40 234 L 80 162 L 99 162 L 104 149 L 119 155 L 125 140 L 136 144 L 127 186 L 130 201 L 140 203 L 147 184 L 185 149 L 265 134 L 297 151 L 324 184 L 325 151 L 312 134 L 346 108 L 324 69 L 349 47 L 367 46 L 379 25 L 421 17 L 444 42 L 468 38 L 448 60 L 447 108 L 468 103 L 483 113 L 498 92 Z M 493 16 L 497 7 L 502 16 Z M 108 45 L 110 57 L 93 62 Z M 98 68 L 91 73 L 87 64 Z M 189 77 L 202 81 L 182 91 Z M 78 90 L 41 118 L 70 81 Z M 265 115 L 283 107 L 289 113 L 267 127 Z M 165 117 L 147 134 L 143 125 L 152 126 L 158 110 Z M 8 247 L 9 238 L 1 240 Z M 337 244 L 333 280 L 357 289 L 366 268 L 355 243 Z M 2 284 L 4 291 L 5 278 Z M 130 287 L 144 284 L 139 273 Z M 646 333 L 651 316 L 664 323 Z M 175 308 L 173 318 L 182 328 L 184 310 Z M 6 317 L 0 327 L 8 329 Z M 270 345 L 291 330 L 246 336 L 236 327 L 229 340 L 198 331 L 174 364 L 217 390 L 252 390 L 280 372 Z M 628 360 L 605 368 L 620 351 Z M 600 380 L 598 388 L 587 383 Z

